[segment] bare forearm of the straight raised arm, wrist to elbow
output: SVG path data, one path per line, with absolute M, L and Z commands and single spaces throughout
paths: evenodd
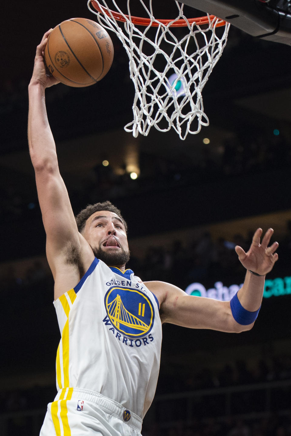
M 45 107 L 45 87 L 31 82 L 28 87 L 28 144 L 35 170 L 46 165 L 57 166 L 55 141 Z

